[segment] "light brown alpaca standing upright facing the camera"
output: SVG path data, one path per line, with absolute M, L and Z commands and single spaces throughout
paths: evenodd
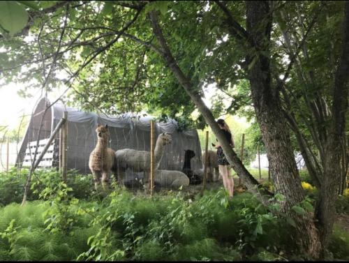
M 101 183 L 103 190 L 108 189 L 108 181 L 110 171 L 116 176 L 116 157 L 112 149 L 107 148 L 109 132 L 107 125 L 97 125 L 97 145 L 94 151 L 89 155 L 89 169 L 94 174 L 94 187 L 98 190 L 98 185 Z

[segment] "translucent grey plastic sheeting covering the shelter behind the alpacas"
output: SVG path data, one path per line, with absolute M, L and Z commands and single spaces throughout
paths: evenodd
M 27 145 L 31 141 L 36 141 L 38 137 L 38 126 L 40 119 L 45 111 L 45 98 L 41 99 L 31 118 L 27 128 L 26 135 L 22 141 L 20 153 L 17 156 L 17 164 L 20 165 L 23 160 Z M 49 105 L 49 102 L 46 102 Z M 76 169 L 82 174 L 88 174 L 89 154 L 97 143 L 96 128 L 97 124 L 107 124 L 110 132 L 109 147 L 114 151 L 124 148 L 137 149 L 141 151 L 150 151 L 150 121 L 152 117 L 140 117 L 135 114 L 127 113 L 120 117 L 106 116 L 94 112 L 82 112 L 72 107 L 65 107 L 56 103 L 47 110 L 43 122 L 40 140 L 50 137 L 50 134 L 57 126 L 57 123 L 63 117 L 63 112 L 68 112 L 68 149 L 67 149 L 67 167 Z M 161 170 L 179 170 L 184 165 L 184 150 L 191 149 L 195 152 L 195 158 L 191 160 L 193 171 L 202 170 L 201 147 L 196 130 L 178 130 L 177 122 L 170 119 L 166 123 L 155 123 L 155 137 L 160 133 L 170 133 L 172 135 L 172 144 L 165 146 L 165 154 L 161 160 L 159 169 Z M 59 140 L 59 135 L 57 135 Z M 58 166 L 58 143 L 55 147 L 56 160 L 54 163 Z

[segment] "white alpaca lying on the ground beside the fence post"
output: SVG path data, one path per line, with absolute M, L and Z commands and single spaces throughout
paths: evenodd
M 156 170 L 154 175 L 154 183 L 160 187 L 179 188 L 189 185 L 189 178 L 184 172 Z

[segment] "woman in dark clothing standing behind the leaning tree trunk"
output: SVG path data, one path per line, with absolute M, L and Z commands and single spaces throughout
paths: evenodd
M 219 128 L 223 130 L 224 135 L 227 138 L 228 142 L 230 142 L 230 146 L 234 148 L 235 147 L 234 140 L 232 139 L 232 133 L 230 132 L 230 128 L 228 124 L 223 119 L 218 119 L 217 123 Z M 218 169 L 219 169 L 219 173 L 223 178 L 224 188 L 225 190 L 228 191 L 229 197 L 232 197 L 234 192 L 234 180 L 232 179 L 232 173 L 231 173 L 230 167 L 228 167 L 229 165 L 228 160 L 225 157 L 223 153 L 223 149 L 219 142 L 216 146 L 214 146 L 214 148 L 217 149 Z

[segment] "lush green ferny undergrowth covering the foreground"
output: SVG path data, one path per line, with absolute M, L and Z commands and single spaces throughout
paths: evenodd
M 20 206 L 6 197 L 0 207 L 0 261 L 285 261 L 295 253 L 289 242 L 295 223 L 279 204 L 264 206 L 251 193 L 232 200 L 223 188 L 149 197 L 112 185 L 102 196 L 91 178 L 74 172 L 68 183 L 54 171 L 38 175 L 31 201 Z M 307 200 L 295 211 L 312 211 Z M 336 225 L 332 257 L 348 259 L 348 243 Z

